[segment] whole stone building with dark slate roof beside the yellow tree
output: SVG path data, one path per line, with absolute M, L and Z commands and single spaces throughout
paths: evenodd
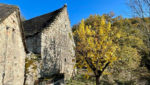
M 75 44 L 67 7 L 25 21 L 24 28 L 28 51 L 42 57 L 41 77 L 64 74 L 65 79 L 70 79 L 74 71 Z

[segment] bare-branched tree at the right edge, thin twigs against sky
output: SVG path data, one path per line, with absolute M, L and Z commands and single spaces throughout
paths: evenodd
M 138 17 L 138 28 L 147 35 L 145 43 L 150 50 L 150 0 L 128 0 L 128 3 L 135 17 Z M 150 69 L 150 51 L 145 60 L 145 65 Z

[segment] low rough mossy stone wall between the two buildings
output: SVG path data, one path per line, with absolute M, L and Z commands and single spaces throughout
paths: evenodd
M 41 56 L 39 54 L 27 54 L 25 65 L 25 85 L 38 85 L 41 63 Z

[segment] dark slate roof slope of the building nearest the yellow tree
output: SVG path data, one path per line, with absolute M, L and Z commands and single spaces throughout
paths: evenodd
M 56 11 L 47 13 L 23 22 L 26 37 L 40 33 L 47 25 L 51 24 L 66 5 Z

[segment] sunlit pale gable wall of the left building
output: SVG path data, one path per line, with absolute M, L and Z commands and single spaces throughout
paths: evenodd
M 25 48 L 19 11 L 0 23 L 0 85 L 23 85 Z

